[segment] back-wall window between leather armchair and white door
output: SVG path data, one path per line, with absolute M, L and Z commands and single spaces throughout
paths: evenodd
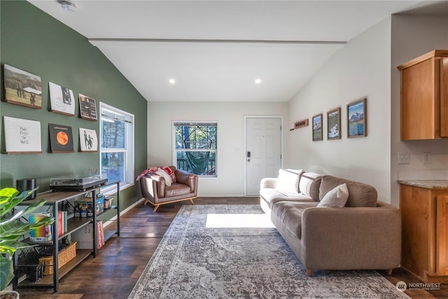
M 218 123 L 174 122 L 174 165 L 200 176 L 216 177 Z

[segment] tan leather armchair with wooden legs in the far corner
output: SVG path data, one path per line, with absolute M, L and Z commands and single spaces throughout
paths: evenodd
M 155 173 L 146 174 L 140 179 L 141 195 L 145 199 L 145 204 L 149 202 L 154 206 L 153 212 L 162 204 L 182 200 L 190 200 L 191 204 L 194 204 L 193 200 L 197 197 L 198 176 L 176 169 L 175 166 L 169 168 L 176 174 L 176 183 L 172 183 L 171 186 L 167 186 L 163 176 Z

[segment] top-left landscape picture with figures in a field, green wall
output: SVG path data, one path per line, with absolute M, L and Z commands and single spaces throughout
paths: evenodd
M 5 101 L 10 104 L 42 109 L 41 77 L 3 65 Z

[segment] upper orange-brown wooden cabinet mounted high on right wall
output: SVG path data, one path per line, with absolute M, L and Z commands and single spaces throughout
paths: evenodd
M 401 139 L 448 137 L 448 50 L 433 50 L 401 71 Z

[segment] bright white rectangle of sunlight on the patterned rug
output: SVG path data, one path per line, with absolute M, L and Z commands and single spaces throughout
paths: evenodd
M 206 228 L 274 228 L 266 214 L 208 214 Z

